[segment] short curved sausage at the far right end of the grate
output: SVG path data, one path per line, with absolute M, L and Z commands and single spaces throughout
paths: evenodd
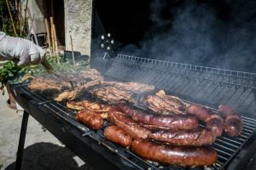
M 231 137 L 239 135 L 244 124 L 240 114 L 228 105 L 219 105 L 218 111 L 225 118 L 224 132 Z

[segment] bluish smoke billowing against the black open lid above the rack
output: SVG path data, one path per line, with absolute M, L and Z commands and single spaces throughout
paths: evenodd
M 256 1 L 165 1 L 150 4 L 138 56 L 238 71 L 256 63 Z M 256 66 L 254 66 L 256 67 Z M 255 69 L 256 70 L 256 69 Z M 255 71 L 254 70 L 254 71 Z

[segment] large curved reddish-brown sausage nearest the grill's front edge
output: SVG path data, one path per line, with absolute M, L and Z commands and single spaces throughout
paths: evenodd
M 136 139 L 131 144 L 131 150 L 150 161 L 183 167 L 211 166 L 218 160 L 216 150 L 210 146 L 174 146 Z

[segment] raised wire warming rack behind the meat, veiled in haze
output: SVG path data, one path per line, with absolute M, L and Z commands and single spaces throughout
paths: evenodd
M 253 94 L 256 90 L 253 86 L 256 74 L 122 54 L 111 59 L 111 63 L 105 77 L 122 82 L 152 84 L 157 89 L 164 89 L 166 94 L 212 108 L 222 104 L 230 105 L 240 112 L 256 112 Z

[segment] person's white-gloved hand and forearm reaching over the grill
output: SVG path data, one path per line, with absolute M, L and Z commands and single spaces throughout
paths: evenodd
M 0 58 L 17 65 L 38 65 L 45 59 L 45 51 L 29 40 L 9 37 L 0 31 Z

